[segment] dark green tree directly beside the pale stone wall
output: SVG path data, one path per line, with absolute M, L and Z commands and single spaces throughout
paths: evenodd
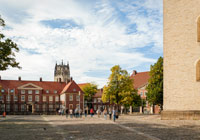
M 153 105 L 163 105 L 163 58 L 151 65 L 147 89 L 147 100 Z

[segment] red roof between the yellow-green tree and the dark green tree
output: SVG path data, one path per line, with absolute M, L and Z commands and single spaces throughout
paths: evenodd
M 133 85 L 135 89 L 138 89 L 148 84 L 149 78 L 150 78 L 149 71 L 133 73 L 131 75 L 131 79 L 134 80 Z

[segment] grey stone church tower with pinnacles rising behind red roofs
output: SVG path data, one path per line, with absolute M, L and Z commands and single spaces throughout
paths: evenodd
M 69 63 L 67 65 L 63 64 L 63 61 L 60 65 L 55 65 L 54 70 L 54 81 L 56 82 L 69 82 L 70 81 L 70 69 Z

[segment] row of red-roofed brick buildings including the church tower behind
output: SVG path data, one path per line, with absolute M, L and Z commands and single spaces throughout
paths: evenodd
M 131 78 L 134 79 L 134 87 L 142 99 L 146 99 L 146 86 L 149 72 L 133 71 Z M 2 80 L 0 78 L 0 112 L 10 114 L 55 114 L 60 108 L 86 109 L 84 93 L 81 87 L 87 83 L 77 84 L 70 77 L 69 64 L 55 65 L 54 81 L 25 81 L 21 77 L 18 80 Z M 103 90 L 100 89 L 93 96 L 92 106 L 98 108 L 111 107 L 101 100 Z M 146 111 L 149 111 L 146 104 Z

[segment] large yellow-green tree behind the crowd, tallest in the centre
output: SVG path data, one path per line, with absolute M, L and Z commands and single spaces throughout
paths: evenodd
M 126 70 L 122 70 L 119 65 L 112 67 L 111 72 L 109 82 L 104 86 L 102 101 L 109 101 L 116 105 L 132 105 L 136 90 L 133 88 L 133 81 L 130 75 Z

